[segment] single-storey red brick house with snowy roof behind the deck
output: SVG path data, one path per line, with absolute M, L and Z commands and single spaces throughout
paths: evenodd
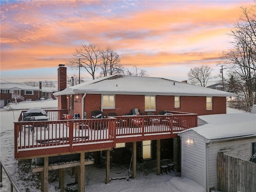
M 138 108 L 142 114 L 162 110 L 206 114 L 226 113 L 229 92 L 155 77 L 112 75 L 66 88 L 66 67 L 58 68 L 59 109 L 70 109 L 80 118 L 92 118 L 91 111 L 106 115 L 128 114 Z M 60 84 L 61 82 L 61 84 Z M 83 114 L 83 115 L 82 115 Z

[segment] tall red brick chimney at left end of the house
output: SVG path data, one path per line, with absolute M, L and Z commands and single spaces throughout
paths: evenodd
M 67 68 L 63 64 L 59 64 L 58 68 L 58 91 L 67 88 Z M 58 96 L 58 109 L 68 109 L 67 96 Z

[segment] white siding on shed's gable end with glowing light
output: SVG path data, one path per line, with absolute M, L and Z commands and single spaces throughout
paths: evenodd
M 194 143 L 189 144 L 188 139 L 193 139 Z M 182 134 L 182 175 L 197 182 L 206 188 L 206 144 L 204 139 L 194 131 Z

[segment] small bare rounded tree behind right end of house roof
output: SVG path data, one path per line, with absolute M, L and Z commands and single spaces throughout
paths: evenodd
M 188 72 L 188 80 L 194 85 L 205 87 L 208 80 L 214 78 L 211 76 L 212 68 L 202 65 L 201 67 L 191 68 Z

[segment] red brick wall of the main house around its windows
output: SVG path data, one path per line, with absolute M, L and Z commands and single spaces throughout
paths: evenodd
M 82 98 L 82 96 L 80 96 Z M 81 99 L 82 100 L 82 99 Z M 74 113 L 81 115 L 81 103 L 74 102 Z M 99 110 L 101 107 L 100 94 L 87 94 L 84 102 L 84 110 L 87 113 L 87 118 L 92 118 L 91 111 Z M 106 115 L 109 112 L 115 112 L 118 116 L 125 115 L 132 108 L 140 109 L 140 112 L 146 114 L 144 106 L 144 95 L 116 95 L 116 108 L 104 109 Z M 212 110 L 206 110 L 205 96 L 180 96 L 180 108 L 174 108 L 174 96 L 156 96 L 156 112 L 162 110 L 179 111 L 196 113 L 198 115 L 207 114 L 225 114 L 226 113 L 226 97 L 213 97 Z

